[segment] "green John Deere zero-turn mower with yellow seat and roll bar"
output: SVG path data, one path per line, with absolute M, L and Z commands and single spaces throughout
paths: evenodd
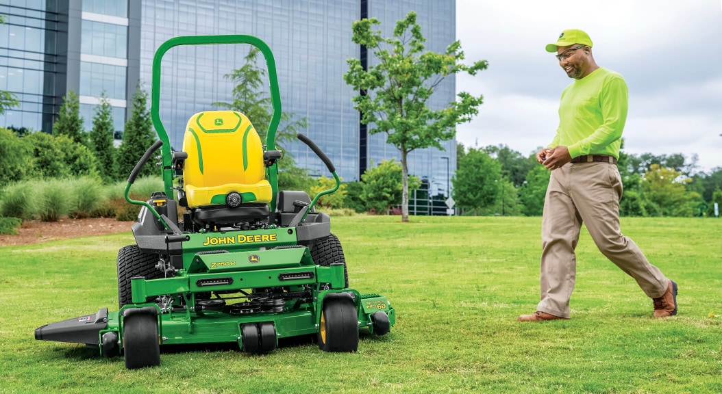
M 160 121 L 160 69 L 176 45 L 246 43 L 266 58 L 273 105 L 266 146 L 251 120 L 235 111 L 204 111 L 188 121 L 183 150 L 173 151 Z M 360 330 L 388 333 L 395 322 L 386 297 L 349 288 L 346 262 L 327 214 L 313 207 L 339 188 L 329 157 L 303 135 L 336 186 L 311 200 L 279 191 L 274 142 L 281 117 L 275 61 L 249 35 L 172 38 L 155 53 L 151 114 L 159 140 L 128 178 L 125 197 L 142 206 L 136 245 L 118 251 L 117 312 L 43 325 L 35 338 L 84 343 L 100 354 L 123 354 L 127 368 L 160 364 L 160 346 L 238 343 L 265 353 L 279 338 L 316 335 L 323 351 L 356 351 Z M 143 165 L 160 149 L 164 190 L 129 198 Z M 174 193 L 175 192 L 175 193 Z M 174 198 L 175 197 L 175 198 Z M 180 213 L 180 215 L 179 215 Z

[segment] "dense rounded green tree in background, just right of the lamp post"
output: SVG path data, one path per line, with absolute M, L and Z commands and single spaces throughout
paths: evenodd
M 451 178 L 453 199 L 462 214 L 478 215 L 499 195 L 501 165 L 482 149 L 469 149 Z

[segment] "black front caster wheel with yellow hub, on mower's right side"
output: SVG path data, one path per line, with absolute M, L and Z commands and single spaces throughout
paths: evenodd
M 327 298 L 323 302 L 321 312 L 318 349 L 334 352 L 356 351 L 358 346 L 359 324 L 356 305 L 350 297 Z

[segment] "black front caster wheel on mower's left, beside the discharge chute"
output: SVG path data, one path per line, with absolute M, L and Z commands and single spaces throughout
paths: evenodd
M 160 365 L 158 318 L 147 313 L 134 313 L 123 319 L 123 351 L 126 368 L 136 369 Z

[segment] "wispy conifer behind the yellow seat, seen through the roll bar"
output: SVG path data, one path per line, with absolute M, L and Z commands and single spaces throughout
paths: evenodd
M 266 69 L 258 66 L 259 53 L 258 48 L 251 48 L 245 56 L 245 64 L 224 76 L 235 84 L 232 91 L 233 101 L 213 102 L 212 105 L 246 115 L 261 137 L 262 144 L 266 144 L 273 118 L 273 105 L 266 82 Z M 296 118 L 293 113 L 281 113 L 275 136 L 277 148 L 284 152 L 283 159 L 277 162 L 278 186 L 281 190 L 309 191 L 314 184 L 308 172 L 297 167 L 291 154 L 284 149 L 284 143 L 295 141 L 296 134 L 307 127 L 307 118 Z

